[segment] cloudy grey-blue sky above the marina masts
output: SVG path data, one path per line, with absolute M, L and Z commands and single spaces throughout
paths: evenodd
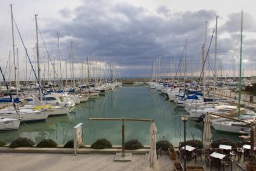
M 205 21 L 207 48 L 211 40 L 216 15 L 218 18 L 217 64 L 222 75 L 233 76 L 238 67 L 241 9 L 244 11 L 243 68 L 244 75 L 256 75 L 256 11 L 253 1 L 4 1 L 1 0 L 0 59 L 6 68 L 12 49 L 10 3 L 26 48 L 34 61 L 35 13 L 38 25 L 52 59 L 58 59 L 57 35 L 60 35 L 62 66 L 69 59 L 70 42 L 74 42 L 76 75 L 86 57 L 94 56 L 100 63 L 115 63 L 121 76 L 149 76 L 153 62 L 161 57 L 162 75 L 179 65 L 185 40 L 188 39 L 188 75 L 202 69 L 201 47 L 204 43 Z M 214 40 L 214 38 L 213 38 Z M 16 48 L 19 48 L 20 73 L 24 77 L 25 52 L 15 29 Z M 40 60 L 47 57 L 39 39 Z M 213 67 L 214 41 L 209 49 Z M 175 60 L 174 60 L 175 59 Z M 175 64 L 174 64 L 174 61 Z M 234 64 L 234 61 L 236 62 Z M 184 60 L 181 61 L 181 71 Z M 30 70 L 30 67 L 28 67 Z M 41 67 L 42 68 L 42 67 Z M 63 70 L 63 68 L 62 68 Z M 8 71 L 8 70 L 7 70 Z M 68 69 L 69 71 L 69 69 Z M 238 72 L 236 71 L 236 75 Z M 220 75 L 220 72 L 219 72 Z

